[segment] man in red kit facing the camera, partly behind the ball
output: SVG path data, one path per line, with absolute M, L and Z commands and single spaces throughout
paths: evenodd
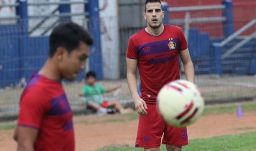
M 127 81 L 135 109 L 140 114 L 135 147 L 160 150 L 181 150 L 188 144 L 187 129 L 167 125 L 156 107 L 156 97 L 165 84 L 179 79 L 178 56 L 184 65 L 187 80 L 194 82 L 194 67 L 187 41 L 181 28 L 164 25 L 165 12 L 159 0 L 147 0 L 144 19 L 147 27 L 130 37 L 127 48 Z M 136 71 L 139 69 L 141 95 L 137 90 Z

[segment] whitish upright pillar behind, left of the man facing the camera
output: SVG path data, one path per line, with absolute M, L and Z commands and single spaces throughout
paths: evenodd
M 119 27 L 117 0 L 99 0 L 104 78 L 119 78 Z

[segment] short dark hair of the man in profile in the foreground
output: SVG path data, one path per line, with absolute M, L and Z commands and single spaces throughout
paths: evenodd
M 74 22 L 67 22 L 56 26 L 49 39 L 50 51 L 48 56 L 52 57 L 58 47 L 64 47 L 71 53 L 75 48 L 79 47 L 79 42 L 92 45 L 93 39 L 85 28 Z

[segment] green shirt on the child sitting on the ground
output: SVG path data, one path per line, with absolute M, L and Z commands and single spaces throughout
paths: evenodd
M 92 101 L 99 105 L 102 104 L 102 95 L 105 94 L 106 89 L 100 85 L 90 86 L 85 85 L 82 89 L 84 96 L 86 97 L 86 103 Z

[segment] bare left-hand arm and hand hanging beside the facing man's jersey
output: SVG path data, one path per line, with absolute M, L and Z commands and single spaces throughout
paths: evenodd
M 136 79 L 137 61 L 138 60 L 126 58 L 127 83 L 129 86 L 130 94 L 132 95 L 132 98 L 134 100 L 137 113 L 139 113 L 140 115 L 146 115 L 148 114 L 148 112 L 146 112 L 146 109 L 148 109 L 148 107 L 146 107 L 145 101 L 142 100 L 138 94 L 138 85 Z

